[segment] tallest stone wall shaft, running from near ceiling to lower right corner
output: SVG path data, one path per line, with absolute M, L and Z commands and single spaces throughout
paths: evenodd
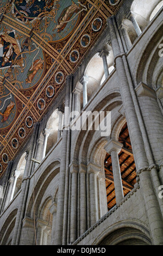
M 117 32 L 114 19 L 115 19 L 114 16 L 111 16 L 108 19 L 109 32 L 110 32 L 112 50 L 114 52 L 114 57 L 116 62 L 117 75 L 121 84 L 120 86 L 121 96 L 123 100 L 124 109 L 126 110 L 126 118 L 127 118 L 129 133 L 130 133 L 131 144 L 133 146 L 136 170 L 137 170 L 137 174 L 139 174 L 140 172 L 142 172 L 142 170 L 144 170 L 142 172 L 142 175 L 140 175 L 140 187 L 142 190 L 143 198 L 145 200 L 149 225 L 151 229 L 151 235 L 153 238 L 153 244 L 161 245 L 162 237 L 163 237 L 163 222 L 162 222 L 161 211 L 159 209 L 158 198 L 154 191 L 151 175 L 149 173 L 148 159 L 150 160 L 150 157 L 152 157 L 151 151 L 148 151 L 148 159 L 147 159 L 144 143 L 146 143 L 146 147 L 148 147 L 148 142 L 144 141 L 141 130 L 140 130 L 140 126 L 137 120 L 137 115 L 135 112 L 135 107 L 137 107 L 137 103 L 135 100 L 135 95 L 133 93 L 133 87 L 131 85 L 131 78 L 129 77 L 127 60 L 126 60 L 126 57 L 121 53 L 120 45 L 118 43 L 118 39 L 117 39 L 118 32 Z M 139 108 L 137 109 L 137 112 L 140 113 Z M 140 115 L 139 115 L 139 121 L 141 122 Z M 146 139 L 146 133 L 143 134 L 143 136 Z M 151 168 L 151 174 L 153 173 L 154 169 L 155 168 Z M 146 182 L 145 185 L 143 184 L 143 181 Z M 147 188 L 150 188 L 150 190 Z M 153 218 L 154 214 L 155 216 L 157 216 L 156 218 Z M 157 231 L 159 233 L 158 236 L 156 235 Z

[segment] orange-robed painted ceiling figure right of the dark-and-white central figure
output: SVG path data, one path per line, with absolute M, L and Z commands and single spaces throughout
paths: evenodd
M 32 83 L 33 78 L 39 69 L 40 70 L 43 69 L 43 60 L 41 58 L 36 59 L 32 64 L 32 66 L 30 66 L 30 69 L 28 70 L 28 73 L 27 73 L 26 83 Z

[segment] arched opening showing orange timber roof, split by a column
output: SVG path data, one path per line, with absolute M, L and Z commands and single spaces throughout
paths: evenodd
M 123 196 L 125 197 L 131 190 L 133 190 L 134 185 L 136 183 L 136 167 L 127 123 L 124 124 L 121 129 L 120 135 L 118 137 L 118 142 L 123 144 L 123 147 L 120 153 L 118 154 L 118 159 L 121 170 Z M 114 176 L 112 172 L 111 155 L 108 153 L 106 153 L 105 156 L 104 169 L 106 181 L 106 196 L 109 211 L 116 205 L 116 194 Z

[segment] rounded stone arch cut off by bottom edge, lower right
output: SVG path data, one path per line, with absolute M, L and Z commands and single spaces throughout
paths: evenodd
M 92 245 L 152 245 L 152 241 L 145 223 L 134 219 L 106 227 Z

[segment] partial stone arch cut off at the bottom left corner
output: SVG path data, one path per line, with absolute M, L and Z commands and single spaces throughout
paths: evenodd
M 5 219 L 0 231 L 0 245 L 7 245 L 9 240 L 11 241 L 12 230 L 15 226 L 17 209 L 13 210 L 9 216 Z

